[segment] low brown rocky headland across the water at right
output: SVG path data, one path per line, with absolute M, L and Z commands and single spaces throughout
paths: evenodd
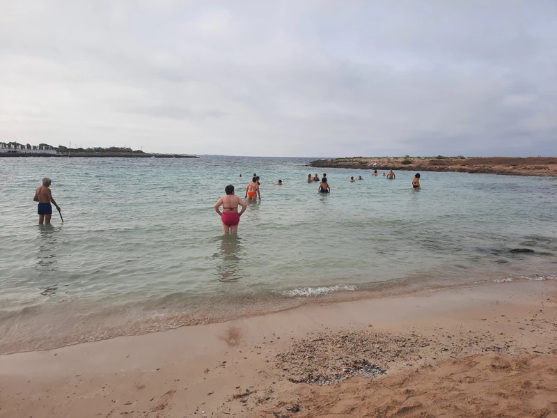
M 377 162 L 376 165 L 375 162 Z M 557 177 L 557 157 L 346 157 L 315 160 L 311 167 L 378 171 L 456 171 L 506 176 Z

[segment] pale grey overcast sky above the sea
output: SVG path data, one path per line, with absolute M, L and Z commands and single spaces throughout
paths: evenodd
M 557 1 L 2 1 L 0 141 L 557 155 Z

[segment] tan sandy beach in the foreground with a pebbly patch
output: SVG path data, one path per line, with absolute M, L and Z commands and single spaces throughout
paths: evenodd
M 0 417 L 557 417 L 557 282 L 0 356 Z

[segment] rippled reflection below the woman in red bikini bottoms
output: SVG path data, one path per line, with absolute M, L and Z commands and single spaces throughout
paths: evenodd
M 240 279 L 249 277 L 244 274 L 242 262 L 246 253 L 237 235 L 223 235 L 219 239 L 219 252 L 214 253 L 214 258 L 219 258 L 221 263 L 217 264 L 217 277 L 222 283 L 234 283 Z

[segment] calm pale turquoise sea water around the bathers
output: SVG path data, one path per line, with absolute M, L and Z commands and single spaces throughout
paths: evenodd
M 557 273 L 555 178 L 423 172 L 416 192 L 407 171 L 386 180 L 327 169 L 322 195 L 306 183 L 324 171 L 310 160 L 0 159 L 0 352 L 385 286 Z M 228 184 L 243 197 L 254 172 L 261 202 L 249 203 L 237 237 L 223 237 L 213 205 Z M 37 225 L 44 176 L 65 224 L 54 214 L 52 226 Z

